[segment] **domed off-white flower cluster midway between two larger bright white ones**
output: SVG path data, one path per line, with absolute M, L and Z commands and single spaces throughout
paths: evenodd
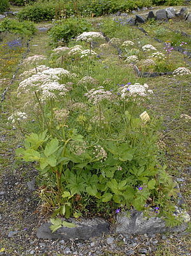
M 87 96 L 88 101 L 94 105 L 105 99 L 113 99 L 111 91 L 105 91 L 103 86 L 99 86 L 97 89 L 91 89 L 88 93 L 85 93 L 84 96 Z

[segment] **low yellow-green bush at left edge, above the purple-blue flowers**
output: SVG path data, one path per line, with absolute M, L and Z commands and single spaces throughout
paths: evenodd
M 11 32 L 14 34 L 22 34 L 23 36 L 31 36 L 36 32 L 36 27 L 32 22 L 4 19 L 0 22 L 0 32 Z

